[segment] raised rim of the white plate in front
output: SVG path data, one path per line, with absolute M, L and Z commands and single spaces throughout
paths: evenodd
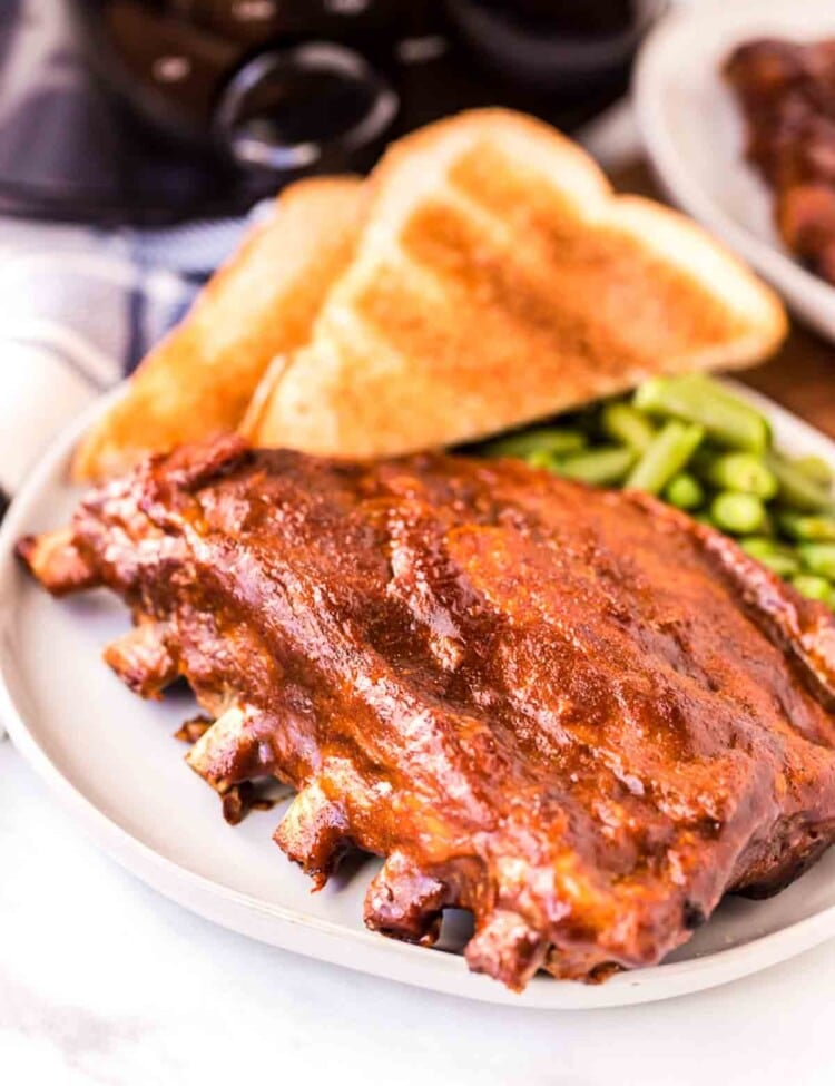
M 764 410 L 775 428 L 792 427 L 803 440 L 824 448 L 835 462 L 835 441 L 782 408 L 768 397 L 736 381 L 726 381 Z M 108 404 L 122 394 L 124 383 L 97 398 L 48 446 L 28 472 L 0 526 L 0 598 L 13 578 L 24 576 L 14 556 L 14 542 L 27 531 L 30 508 L 56 472 L 67 476 L 72 448 L 79 436 Z M 65 486 L 68 481 L 65 482 Z M 11 608 L 8 609 L 11 612 Z M 534 977 L 524 992 L 508 991 L 490 978 L 471 974 L 458 955 L 428 952 L 364 929 L 322 920 L 286 906 L 223 886 L 157 851 L 96 806 L 30 732 L 24 711 L 11 689 L 14 668 L 8 619 L 0 626 L 0 718 L 17 751 L 57 796 L 88 838 L 131 874 L 157 892 L 222 927 L 269 946 L 389 980 L 462 996 L 485 1002 L 537 1010 L 602 1009 L 660 999 L 717 987 L 785 961 L 835 936 L 835 904 L 796 920 L 777 931 L 755 937 L 740 946 L 684 961 L 661 962 L 626 971 L 599 986 Z M 294 938 L 313 933 L 305 941 Z M 299 946 L 299 941 L 304 943 Z

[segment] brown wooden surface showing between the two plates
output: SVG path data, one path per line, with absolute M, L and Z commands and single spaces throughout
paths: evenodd
M 642 163 L 619 172 L 613 183 L 620 192 L 659 198 Z M 835 438 L 835 344 L 798 322 L 792 321 L 792 332 L 775 358 L 734 376 Z

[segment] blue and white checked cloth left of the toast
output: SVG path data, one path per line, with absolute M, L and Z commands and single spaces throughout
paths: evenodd
M 104 232 L 0 219 L 7 495 L 56 432 L 180 319 L 245 227 L 245 219 L 228 219 Z

